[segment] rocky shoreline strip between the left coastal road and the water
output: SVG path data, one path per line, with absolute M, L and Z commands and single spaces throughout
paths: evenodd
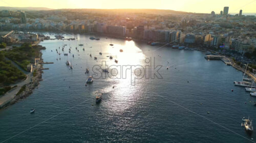
M 41 45 L 38 45 L 40 42 L 36 42 L 36 43 L 34 43 L 34 44 L 32 44 L 32 45 L 34 45 L 34 46 L 41 46 Z M 42 47 L 42 46 L 41 46 Z M 41 57 L 42 57 L 42 53 L 41 53 L 41 50 L 42 49 L 39 49 L 39 59 L 40 59 L 40 61 L 38 61 L 38 63 L 39 64 L 37 64 L 36 66 L 35 66 L 35 68 L 33 69 L 33 71 L 34 70 L 36 70 L 36 75 L 35 76 L 33 76 L 33 71 L 30 73 L 30 74 L 32 74 L 32 77 L 27 77 L 28 79 L 27 80 L 29 80 L 30 82 L 29 83 L 25 83 L 22 87 L 24 87 L 25 86 L 25 89 L 22 91 L 22 92 L 20 92 L 21 90 L 22 90 L 22 87 L 19 87 L 19 90 L 17 90 L 17 88 L 14 88 L 14 89 L 12 89 L 11 91 L 13 91 L 13 92 L 15 92 L 15 93 L 13 93 L 14 94 L 14 98 L 12 98 L 11 100 L 8 100 L 8 101 L 6 101 L 6 102 L 4 102 L 3 103 L 3 105 L 1 105 L 1 107 L 0 107 L 0 110 L 1 109 L 5 109 L 5 108 L 7 108 L 8 106 L 10 106 L 10 105 L 13 105 L 14 103 L 16 103 L 16 102 L 18 102 L 18 101 L 20 101 L 21 99 L 25 99 L 26 97 L 28 97 L 29 95 L 31 95 L 32 93 L 33 93 L 33 90 L 36 88 L 36 87 L 38 87 L 38 85 L 39 85 L 39 81 L 41 81 L 42 80 L 42 73 L 43 73 L 43 71 L 42 71 L 42 69 L 43 69 L 43 66 L 42 66 L 42 64 L 40 64 L 40 63 L 44 63 L 44 61 L 43 61 L 43 59 L 41 59 Z M 30 78 L 30 79 L 29 79 Z M 16 90 L 15 90 L 16 89 Z M 11 91 L 9 91 L 9 92 L 11 92 Z M 20 93 L 19 93 L 20 92 Z M 18 94 L 19 93 L 19 94 Z M 12 95 L 13 95 L 12 94 Z M 18 95 L 17 95 L 18 94 Z M 5 96 L 5 95 L 3 95 L 3 96 Z

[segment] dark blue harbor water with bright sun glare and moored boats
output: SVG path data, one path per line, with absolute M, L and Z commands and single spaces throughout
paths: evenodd
M 46 47 L 41 51 L 42 59 L 53 63 L 44 64 L 49 70 L 44 70 L 42 81 L 30 96 L 0 111 L 0 126 L 5 129 L 0 130 L 0 140 L 9 138 L 11 132 L 24 131 L 49 119 L 36 126 L 36 132 L 28 130 L 10 141 L 28 142 L 27 134 L 33 134 L 34 138 L 29 138 L 32 142 L 82 142 L 87 138 L 92 138 L 92 142 L 108 142 L 111 141 L 109 138 L 117 142 L 136 142 L 139 136 L 141 140 L 151 138 L 155 142 L 182 142 L 184 139 L 191 142 L 245 142 L 244 138 L 210 122 L 248 136 L 244 126 L 241 127 L 241 118 L 250 116 L 250 119 L 256 119 L 256 98 L 244 88 L 234 86 L 233 81 L 240 81 L 243 72 L 219 60 L 204 60 L 205 52 L 197 50 L 162 48 L 154 51 L 157 47 L 145 43 L 121 39 L 110 41 L 105 37 L 96 41 L 90 40 L 90 37 L 96 37 L 91 35 L 77 37 L 78 42 L 40 42 Z M 76 46 L 80 40 L 83 46 Z M 55 49 L 60 46 L 61 50 L 65 44 L 63 52 L 56 53 Z M 71 53 L 69 47 L 72 47 Z M 68 56 L 63 53 L 68 53 Z M 111 71 L 118 65 L 148 66 L 152 63 L 146 63 L 145 59 L 150 58 L 155 65 L 163 65 L 159 70 L 162 78 L 146 78 L 148 75 L 145 75 L 131 85 L 131 73 L 126 78 L 104 76 L 111 72 L 119 75 L 120 71 Z M 66 65 L 67 61 L 71 62 L 73 69 Z M 102 77 L 97 78 L 93 75 L 93 67 L 101 66 L 102 61 L 109 68 L 106 70 L 103 65 Z M 93 82 L 86 83 L 90 76 L 93 76 Z M 183 124 L 177 124 L 177 121 Z M 55 136 L 52 136 L 53 132 Z M 98 133 L 101 133 L 101 138 L 92 137 Z M 182 139 L 176 136 L 177 133 Z M 202 134 L 204 137 L 195 138 Z M 248 136 L 251 138 L 255 138 L 255 134 Z

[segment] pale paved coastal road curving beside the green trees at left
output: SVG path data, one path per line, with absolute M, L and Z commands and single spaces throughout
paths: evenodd
M 7 59 L 7 60 L 9 60 L 9 59 Z M 22 69 L 16 63 L 14 63 L 14 62 L 12 62 L 12 63 L 18 69 Z M 3 107 L 5 104 L 9 103 L 10 101 L 12 101 L 15 98 L 17 92 L 20 90 L 20 88 L 22 88 L 23 85 L 28 84 L 29 82 L 32 81 L 34 69 L 32 70 L 32 72 L 27 72 L 23 69 L 22 69 L 22 71 L 27 75 L 27 78 L 23 81 L 13 84 L 13 85 L 17 85 L 17 87 L 8 91 L 5 95 L 0 97 L 0 108 Z

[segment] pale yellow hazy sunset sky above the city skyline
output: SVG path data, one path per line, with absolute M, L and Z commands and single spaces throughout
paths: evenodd
M 0 0 L 6 7 L 47 7 L 52 9 L 169 9 L 185 12 L 219 13 L 229 7 L 229 13 L 256 13 L 256 0 Z

